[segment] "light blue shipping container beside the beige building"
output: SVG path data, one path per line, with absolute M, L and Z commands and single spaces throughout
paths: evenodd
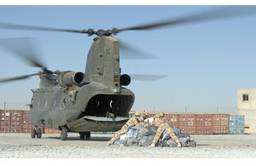
M 244 134 L 244 115 L 230 115 L 230 134 Z

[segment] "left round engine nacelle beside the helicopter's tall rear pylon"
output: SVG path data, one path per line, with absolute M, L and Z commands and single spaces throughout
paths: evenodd
M 59 76 L 59 83 L 62 86 L 69 86 L 73 84 L 82 83 L 84 80 L 84 73 L 83 72 L 61 72 Z

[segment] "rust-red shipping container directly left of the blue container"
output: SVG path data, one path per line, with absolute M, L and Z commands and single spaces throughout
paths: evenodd
M 229 114 L 212 114 L 212 134 L 229 134 Z

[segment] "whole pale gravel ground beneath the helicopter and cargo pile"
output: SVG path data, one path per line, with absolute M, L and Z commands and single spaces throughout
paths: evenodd
M 91 134 L 80 140 L 79 134 L 0 133 L 0 158 L 256 158 L 256 134 L 190 135 L 196 147 L 107 146 L 113 135 Z

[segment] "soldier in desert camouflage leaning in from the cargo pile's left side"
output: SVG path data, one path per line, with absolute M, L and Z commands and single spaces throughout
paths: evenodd
M 137 125 L 140 123 L 140 121 L 139 121 L 139 117 L 140 117 L 140 116 L 141 116 L 141 114 L 140 114 L 139 112 L 135 112 L 134 116 L 131 117 L 131 118 L 127 121 L 127 123 L 125 123 L 125 125 L 122 127 L 122 129 L 120 129 L 120 130 L 118 131 L 118 134 L 117 134 L 117 135 L 113 136 L 113 138 L 108 141 L 108 144 L 107 144 L 107 145 L 110 146 L 110 145 L 113 144 L 113 142 L 114 142 L 115 140 L 119 140 L 119 138 L 120 138 L 121 135 L 127 133 L 128 128 L 131 128 L 131 127 L 133 127 L 133 126 L 137 126 Z

